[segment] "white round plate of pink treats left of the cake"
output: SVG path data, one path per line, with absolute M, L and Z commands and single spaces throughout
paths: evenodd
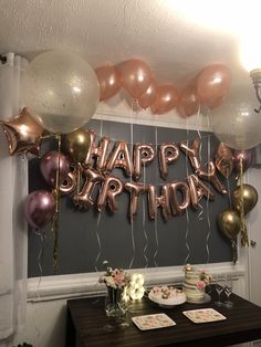
M 187 299 L 182 291 L 168 286 L 153 287 L 148 294 L 148 298 L 164 308 L 180 305 Z

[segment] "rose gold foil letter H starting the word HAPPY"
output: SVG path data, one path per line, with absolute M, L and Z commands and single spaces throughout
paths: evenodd
M 96 147 L 95 146 L 96 133 L 94 130 L 88 130 L 88 134 L 91 145 L 85 157 L 84 167 L 87 168 L 94 166 L 97 171 L 104 171 L 106 166 L 106 154 L 111 139 L 104 136 L 101 139 L 100 145 Z

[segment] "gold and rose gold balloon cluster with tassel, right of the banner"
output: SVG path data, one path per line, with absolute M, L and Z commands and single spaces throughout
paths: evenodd
M 226 149 L 226 150 L 225 150 Z M 242 182 L 242 174 L 252 164 L 252 151 L 251 150 L 231 150 L 222 145 L 222 150 L 226 151 L 226 160 L 221 161 L 217 157 L 216 165 L 220 167 L 220 170 L 225 172 L 225 176 L 231 170 L 229 159 L 233 157 L 234 169 L 238 174 L 238 187 L 232 191 L 231 194 L 231 208 L 222 211 L 218 215 L 218 227 L 228 240 L 231 241 L 233 251 L 234 242 L 238 234 L 241 233 L 241 244 L 242 246 L 248 246 L 248 234 L 244 217 L 255 207 L 258 202 L 258 192 L 251 185 L 246 185 Z M 218 154 L 221 149 L 219 148 Z M 234 261 L 237 256 L 234 253 Z

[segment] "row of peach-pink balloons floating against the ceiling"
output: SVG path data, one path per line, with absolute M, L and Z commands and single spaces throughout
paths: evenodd
M 149 66 L 130 59 L 116 66 L 95 70 L 100 83 L 100 101 L 113 97 L 123 87 L 139 107 L 164 114 L 177 107 L 181 117 L 196 114 L 200 106 L 210 109 L 221 105 L 230 87 L 229 69 L 221 64 L 207 66 L 181 93 L 174 84 L 158 85 Z

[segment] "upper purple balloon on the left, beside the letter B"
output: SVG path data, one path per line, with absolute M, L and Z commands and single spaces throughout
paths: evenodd
M 45 181 L 55 187 L 56 171 L 59 166 L 59 151 L 52 150 L 46 153 L 40 161 L 40 170 Z M 70 162 L 67 158 L 60 153 L 60 185 L 65 180 L 70 172 Z

